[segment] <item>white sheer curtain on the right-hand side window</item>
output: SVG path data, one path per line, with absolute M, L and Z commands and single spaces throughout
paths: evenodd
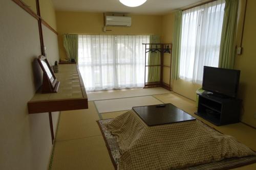
M 203 66 L 218 67 L 225 0 L 182 12 L 180 78 L 201 84 Z

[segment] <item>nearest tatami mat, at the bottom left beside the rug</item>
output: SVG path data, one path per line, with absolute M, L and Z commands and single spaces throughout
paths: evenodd
M 102 136 L 55 143 L 52 170 L 114 170 Z

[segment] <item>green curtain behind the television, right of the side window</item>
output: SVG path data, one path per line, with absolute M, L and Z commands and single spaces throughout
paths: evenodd
M 234 67 L 239 0 L 226 0 L 221 34 L 219 67 Z

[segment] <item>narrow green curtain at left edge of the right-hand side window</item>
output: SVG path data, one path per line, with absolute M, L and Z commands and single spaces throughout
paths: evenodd
M 172 51 L 172 79 L 178 80 L 180 74 L 180 48 L 182 31 L 182 11 L 175 12 L 173 31 L 173 51 Z

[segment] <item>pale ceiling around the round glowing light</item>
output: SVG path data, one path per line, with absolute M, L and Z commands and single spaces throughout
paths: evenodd
M 205 0 L 147 0 L 139 7 L 126 7 L 119 0 L 52 0 L 57 11 L 120 12 L 162 15 Z

